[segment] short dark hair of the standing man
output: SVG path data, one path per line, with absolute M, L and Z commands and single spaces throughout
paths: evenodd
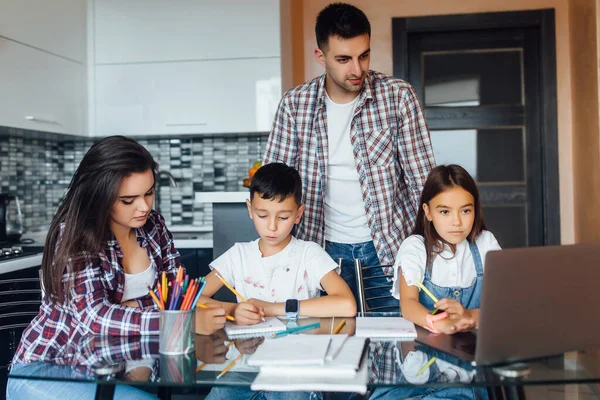
M 332 3 L 317 15 L 315 35 L 319 49 L 325 51 L 330 36 L 352 39 L 367 34 L 371 36 L 371 24 L 360 9 L 346 3 Z

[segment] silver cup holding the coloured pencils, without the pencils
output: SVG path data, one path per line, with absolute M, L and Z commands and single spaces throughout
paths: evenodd
M 196 349 L 195 310 L 160 310 L 161 354 L 187 354 Z

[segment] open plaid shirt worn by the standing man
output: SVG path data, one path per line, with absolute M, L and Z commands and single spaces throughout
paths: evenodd
M 369 71 L 354 111 L 350 141 L 377 255 L 382 264 L 393 264 L 400 243 L 412 233 L 425 179 L 435 165 L 413 87 Z M 306 211 L 296 236 L 321 246 L 328 156 L 322 75 L 283 96 L 264 159 L 265 164 L 283 162 L 300 172 Z

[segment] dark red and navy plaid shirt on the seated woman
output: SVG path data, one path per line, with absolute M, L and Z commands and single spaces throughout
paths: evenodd
M 163 217 L 151 211 L 146 224 L 135 231 L 155 266 L 154 285 L 162 271 L 173 280 L 181 261 Z M 84 335 L 158 335 L 159 312 L 149 295 L 137 299 L 138 307 L 120 304 L 125 288 L 122 260 L 116 240 L 108 241 L 99 254 L 71 258 L 63 275 L 65 284 L 73 282 L 70 300 L 59 303 L 43 297 L 40 312 L 23 332 L 13 362 L 66 364 L 72 358 L 67 345 Z

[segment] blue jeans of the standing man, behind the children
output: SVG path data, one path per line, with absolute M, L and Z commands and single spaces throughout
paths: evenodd
M 354 298 L 356 299 L 356 304 L 358 305 L 358 288 L 356 286 L 356 269 L 354 267 L 354 260 L 360 260 L 360 263 L 363 267 L 379 265 L 379 258 L 377 257 L 377 251 L 375 250 L 373 242 L 354 244 L 326 242 L 325 250 L 335 262 L 337 262 L 340 258 L 342 259 L 342 278 L 346 281 L 348 286 L 350 286 L 350 289 L 354 294 Z M 383 275 L 383 271 L 379 268 L 372 268 L 363 271 L 363 277 L 378 275 Z M 378 288 L 381 286 L 389 286 L 391 285 L 391 282 L 388 282 L 386 278 L 367 279 L 364 281 L 363 285 L 365 289 Z M 389 296 L 390 289 L 370 289 L 367 291 L 367 294 L 368 297 Z M 367 301 L 367 306 L 369 308 L 387 307 L 377 311 L 400 311 L 400 302 L 393 297 L 369 300 Z

